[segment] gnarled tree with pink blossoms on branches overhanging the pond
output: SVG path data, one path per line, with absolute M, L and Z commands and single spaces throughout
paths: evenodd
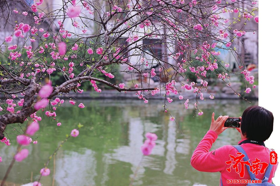
M 198 115 L 203 114 L 198 99 L 214 99 L 208 89 L 213 77 L 230 87 L 230 77 L 241 74 L 242 92 L 255 87 L 237 42 L 253 32 L 244 30 L 248 22 L 258 23 L 256 1 L 61 0 L 46 5 L 43 0 L 4 0 L 0 6 L 5 33 L 0 43 L 0 139 L 6 144 L 6 126 L 38 122 L 37 111 L 60 126 L 55 110 L 64 103 L 61 95 L 83 94 L 84 83 L 100 94 L 103 87 L 134 91 L 144 103 L 164 96 L 168 113 L 174 94 L 186 109 L 194 104 Z M 232 53 L 237 69 L 219 58 L 221 50 Z M 132 85 L 122 82 L 127 74 Z M 189 103 L 182 90 L 193 92 L 196 100 Z

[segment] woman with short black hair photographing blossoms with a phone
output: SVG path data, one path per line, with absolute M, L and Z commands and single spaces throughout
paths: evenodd
M 271 184 L 278 162 L 270 165 L 270 151 L 272 150 L 265 147 L 264 141 L 273 131 L 272 112 L 256 105 L 248 107 L 240 117 L 241 128 L 236 128 L 241 135 L 238 145 L 225 145 L 209 152 L 218 135 L 227 129 L 224 123 L 228 116 L 219 116 L 216 120 L 214 116 L 213 112 L 210 129 L 192 154 L 190 160 L 192 167 L 204 172 L 220 172 L 220 185 L 223 186 L 245 186 L 248 182 L 234 184 L 229 180 L 252 180 L 253 178 Z M 245 155 L 244 159 L 237 154 L 238 152 Z M 246 163 L 247 160 L 249 161 Z M 240 161 L 245 162 L 243 168 Z M 238 163 L 236 167 L 235 163 Z M 260 166 L 256 166 L 257 164 Z

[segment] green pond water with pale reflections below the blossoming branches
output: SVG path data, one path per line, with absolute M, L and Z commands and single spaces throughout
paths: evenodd
M 56 110 L 56 119 L 62 123 L 60 127 L 42 113 L 37 115 L 43 119 L 39 122 L 40 130 L 33 138 L 38 144 L 30 144 L 29 156 L 22 162 L 15 162 L 8 182 L 15 185 L 36 181 L 40 169 L 50 155 L 55 151 L 66 134 L 70 134 L 78 123 L 84 125 L 79 129 L 78 137 L 71 137 L 50 160 L 49 176 L 42 178 L 43 186 L 128 186 L 136 170 L 142 153 L 140 146 L 147 132 L 156 133 L 158 140 L 152 154 L 145 156 L 138 169 L 133 185 L 145 186 L 189 186 L 189 185 L 219 185 L 220 173 L 199 172 L 190 165 L 190 158 L 197 144 L 209 130 L 211 114 L 216 117 L 229 115 L 239 117 L 250 105 L 244 100 L 206 100 L 200 101 L 199 109 L 202 116 L 194 116 L 194 100 L 189 101 L 190 108 L 186 110 L 182 101 L 167 103 L 169 111 L 175 117 L 182 132 L 170 115 L 163 112 L 163 100 L 150 100 L 148 104 L 138 100 L 82 100 L 85 108 L 70 106 L 64 103 L 64 108 Z M 12 141 L 11 146 L 0 143 L 0 180 L 12 160 L 17 144 L 16 130 L 18 124 L 11 124 L 6 132 Z M 25 124 L 22 124 L 24 128 Z M 13 131 L 9 131 L 13 130 Z M 219 135 L 212 149 L 226 144 L 237 144 L 240 134 L 236 129 L 229 128 Z

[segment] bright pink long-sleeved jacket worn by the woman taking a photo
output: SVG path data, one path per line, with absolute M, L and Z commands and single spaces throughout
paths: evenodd
M 234 155 L 235 157 L 237 156 L 237 149 L 235 149 L 231 145 L 225 145 L 222 146 L 216 150 L 210 151 L 212 144 L 216 141 L 218 138 L 218 135 L 216 132 L 213 130 L 208 130 L 208 132 L 205 134 L 203 139 L 199 142 L 197 145 L 197 148 L 192 154 L 192 158 L 190 159 L 190 164 L 192 167 L 197 169 L 198 171 L 203 171 L 203 172 L 220 172 L 221 173 L 221 179 L 223 182 L 223 186 L 246 186 L 247 184 L 233 184 L 233 183 L 227 183 L 227 180 L 250 180 L 249 173 L 245 167 L 244 171 L 244 177 L 241 178 L 238 174 L 236 173 L 235 169 L 231 166 L 231 171 L 228 172 L 227 168 L 230 167 L 231 164 L 226 164 L 226 161 L 229 161 L 230 154 Z M 246 139 L 244 139 L 246 140 Z M 238 143 L 244 141 L 240 140 Z M 260 163 L 266 162 L 269 163 L 269 149 L 257 145 L 257 144 L 251 144 L 251 143 L 244 143 L 240 145 L 244 151 L 247 153 L 248 158 L 250 159 L 250 162 L 252 163 L 255 158 L 258 158 L 260 160 Z M 276 152 L 277 153 L 277 152 Z M 232 160 L 232 159 L 231 159 Z M 243 159 L 241 161 L 244 161 Z M 274 173 L 276 171 L 278 162 L 276 165 L 272 167 L 268 182 L 272 183 L 272 178 L 274 177 Z M 261 168 L 261 167 L 260 167 Z M 241 165 L 238 165 L 238 170 L 240 172 L 241 170 Z M 256 178 L 259 180 L 262 180 L 264 174 L 260 174 L 258 171 L 258 174 L 255 175 Z M 220 182 L 220 180 L 219 180 Z

